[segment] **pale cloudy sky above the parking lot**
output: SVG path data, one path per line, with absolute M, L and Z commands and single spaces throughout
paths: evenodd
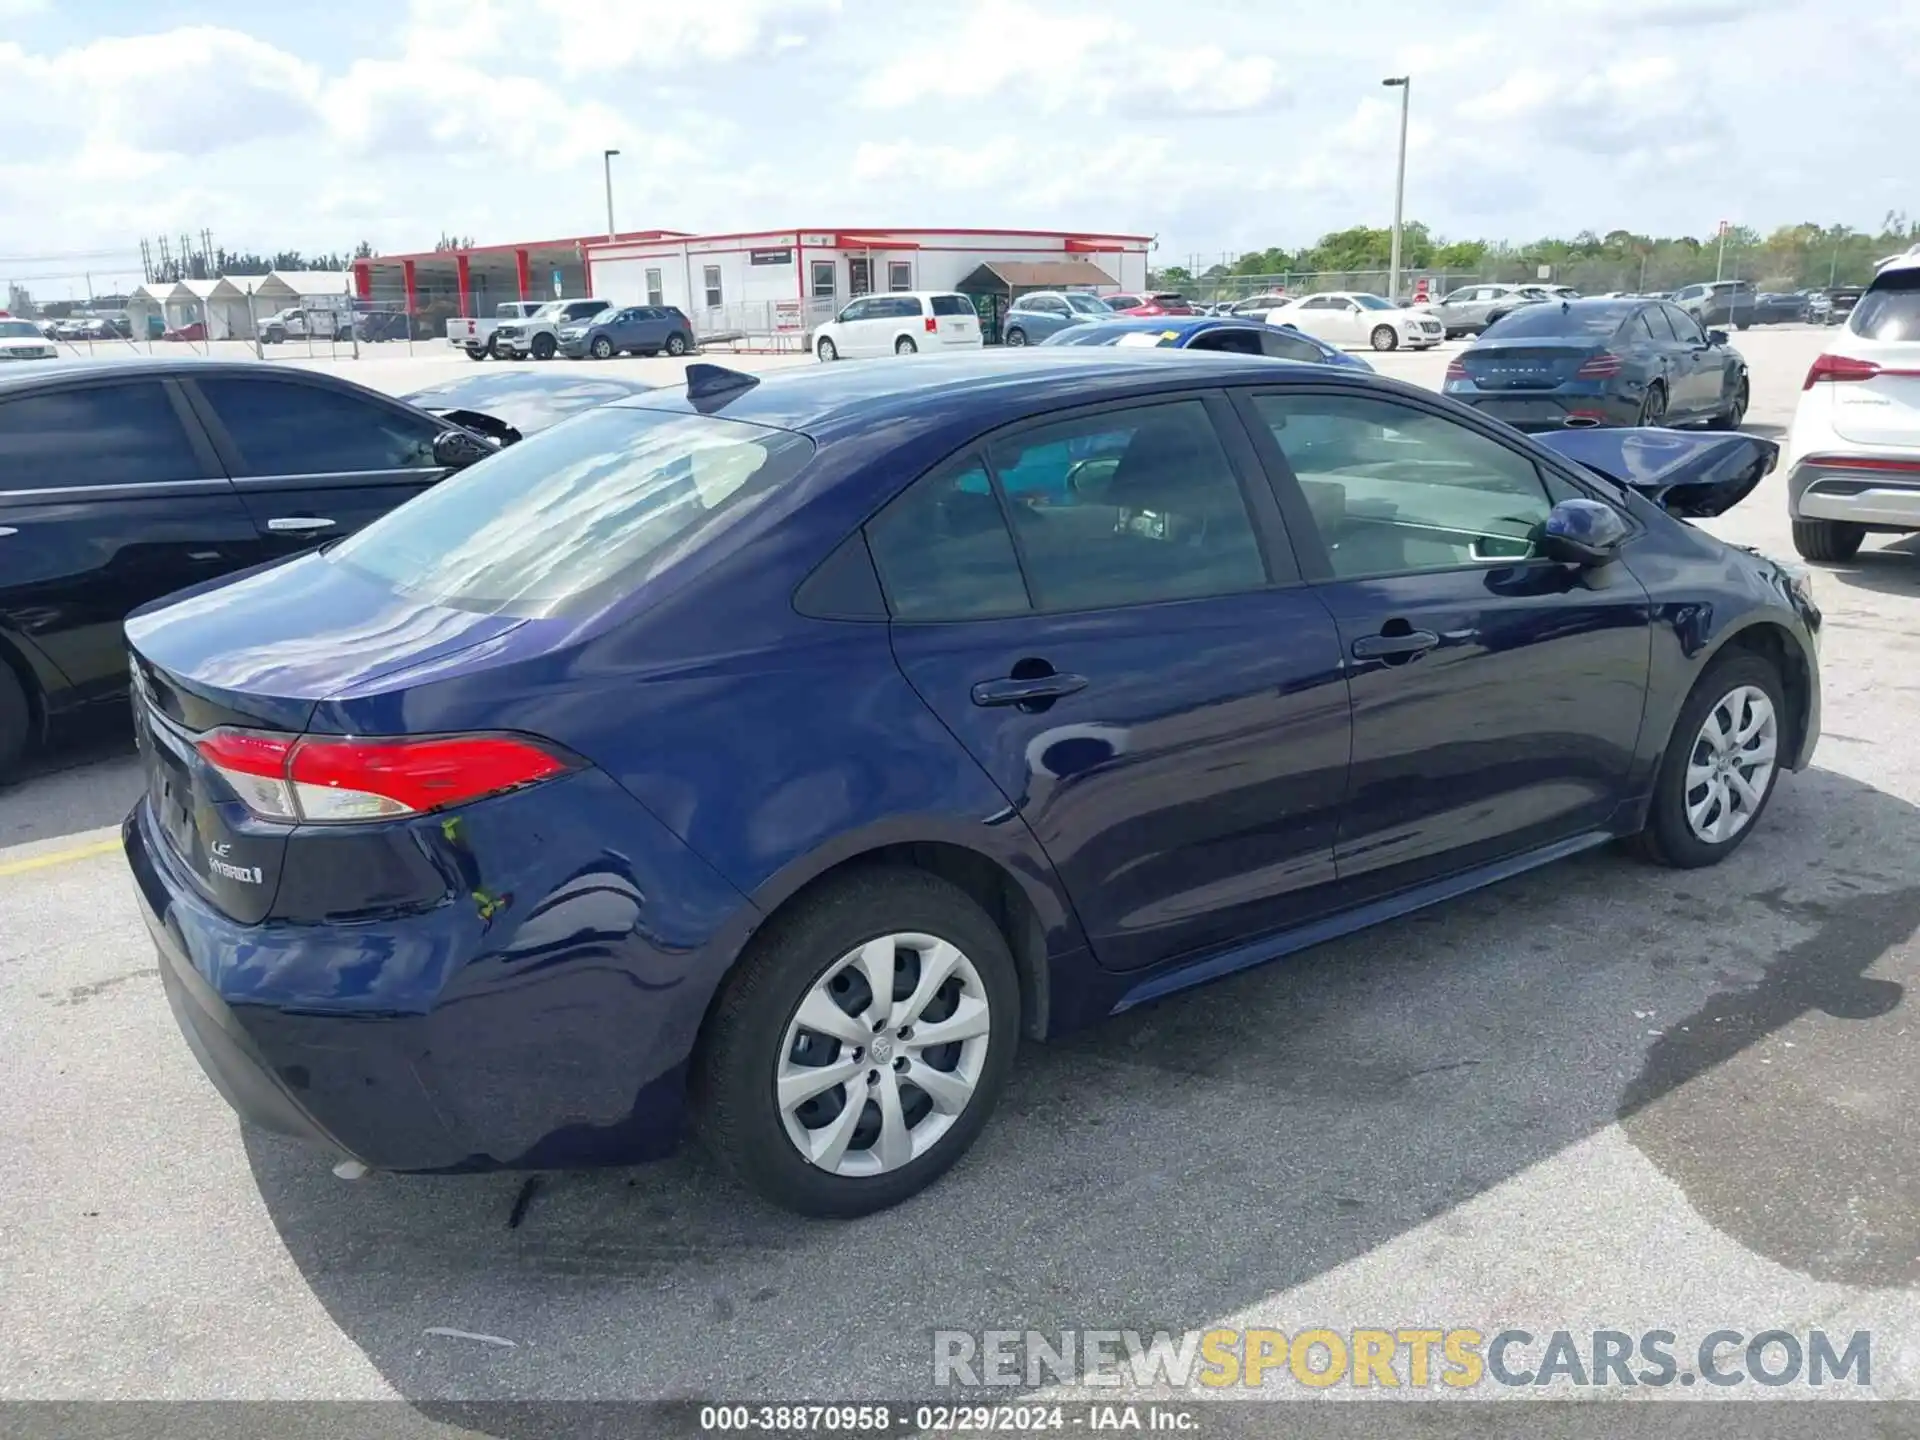
M 1920 211 L 1920 0 L 0 0 L 0 282 L 142 236 L 1083 228 L 1158 263 Z

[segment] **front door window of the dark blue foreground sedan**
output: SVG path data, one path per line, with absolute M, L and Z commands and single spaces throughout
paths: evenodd
M 1427 411 L 1258 396 L 1336 578 L 1528 559 L 1551 501 L 1530 459 Z

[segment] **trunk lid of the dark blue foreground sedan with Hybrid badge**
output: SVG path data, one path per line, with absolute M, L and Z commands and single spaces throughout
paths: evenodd
M 334 691 L 522 624 L 422 605 L 323 555 L 136 611 L 127 620 L 134 735 L 159 839 L 211 904 L 261 922 L 294 828 L 252 814 L 196 741 L 223 726 L 301 733 Z

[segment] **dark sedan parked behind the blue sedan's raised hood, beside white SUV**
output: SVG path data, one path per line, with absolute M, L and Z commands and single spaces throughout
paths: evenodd
M 1446 394 L 1521 430 L 1688 424 L 1738 430 L 1747 361 L 1665 300 L 1565 300 L 1488 326 Z

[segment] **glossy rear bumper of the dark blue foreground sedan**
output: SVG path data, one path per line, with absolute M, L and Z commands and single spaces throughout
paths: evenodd
M 470 845 L 438 856 L 478 864 L 503 833 L 543 833 L 524 862 L 486 866 L 503 908 L 482 916 L 455 891 L 342 924 L 227 918 L 134 806 L 121 839 L 167 1002 L 240 1119 L 397 1171 L 678 1146 L 685 1064 L 728 958 L 710 941 L 751 906 L 605 776 L 545 789 L 543 812 L 528 808 L 538 791 L 461 812 Z M 612 854 L 624 866 L 601 868 Z

